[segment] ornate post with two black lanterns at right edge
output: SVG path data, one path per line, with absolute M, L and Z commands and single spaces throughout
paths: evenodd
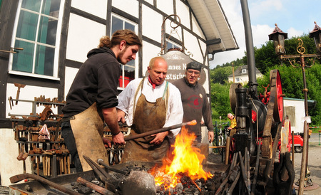
M 287 59 L 289 60 L 290 64 L 293 67 L 298 67 L 296 64 L 299 64 L 302 68 L 302 76 L 303 76 L 303 93 L 305 95 L 305 117 L 306 120 L 308 117 L 308 110 L 307 110 L 307 82 L 305 79 L 305 58 L 314 58 L 312 60 L 312 65 L 315 63 L 315 58 L 321 57 L 321 28 L 320 26 L 317 26 L 317 23 L 315 22 L 315 28 L 313 31 L 310 32 L 310 38 L 314 38 L 315 40 L 315 46 L 317 48 L 316 54 L 305 54 L 305 48 L 302 46 L 303 41 L 298 38 L 297 46 L 297 53 L 298 55 L 285 55 L 285 46 L 284 46 L 284 40 L 287 38 L 287 33 L 284 33 L 280 30 L 280 28 L 277 27 L 277 24 L 275 23 L 275 29 L 272 33 L 269 35 L 269 40 L 273 40 L 274 46 L 275 46 L 275 53 L 280 57 L 281 60 Z M 293 60 L 291 60 L 293 58 Z M 295 58 L 300 58 L 300 61 L 295 60 Z M 310 66 L 312 66 L 310 65 Z M 309 67 L 310 67 L 309 66 Z M 305 120 L 304 125 L 304 135 L 303 135 L 303 152 L 302 152 L 302 162 L 301 162 L 301 172 L 300 172 L 300 184 L 299 184 L 299 194 L 303 194 L 305 181 L 310 181 L 312 184 L 312 181 L 310 179 L 305 179 L 307 177 L 307 153 L 308 153 L 308 128 L 307 128 L 307 121 Z M 292 146 L 293 147 L 293 146 Z M 313 185 L 313 184 L 312 184 Z

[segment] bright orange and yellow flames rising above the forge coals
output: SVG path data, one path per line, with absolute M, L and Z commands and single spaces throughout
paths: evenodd
M 156 186 L 164 184 L 165 189 L 174 188 L 179 182 L 180 177 L 187 175 L 190 179 L 205 179 L 213 177 L 210 172 L 203 170 L 202 162 L 205 159 L 200 154 L 200 149 L 193 147 L 193 141 L 196 136 L 188 134 L 188 130 L 182 127 L 180 134 L 176 136 L 174 144 L 174 158 L 170 164 L 163 162 L 163 167 L 151 170 L 151 174 L 155 177 Z

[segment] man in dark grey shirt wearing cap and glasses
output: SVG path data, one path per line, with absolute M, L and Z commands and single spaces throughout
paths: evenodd
M 200 125 L 202 117 L 206 127 L 208 127 L 208 139 L 213 142 L 214 127 L 212 122 L 212 114 L 210 104 L 202 85 L 198 84 L 200 78 L 200 70 L 202 65 L 197 62 L 190 62 L 186 65 L 185 77 L 175 80 L 175 85 L 180 90 L 183 103 L 183 122 L 196 120 L 198 123 L 188 127 L 188 132 L 193 132 L 197 136 L 198 142 L 201 142 Z

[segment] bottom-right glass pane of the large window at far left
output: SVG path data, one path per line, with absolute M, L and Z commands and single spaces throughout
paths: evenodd
M 54 48 L 37 46 L 34 73 L 39 75 L 54 74 Z

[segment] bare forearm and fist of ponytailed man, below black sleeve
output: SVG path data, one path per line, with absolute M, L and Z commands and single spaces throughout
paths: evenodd
M 123 139 L 123 133 L 119 129 L 118 125 L 118 116 L 116 107 L 107 107 L 103 108 L 103 118 L 107 123 L 109 129 L 111 130 L 111 134 L 113 135 L 113 143 L 116 145 L 125 144 L 125 140 Z

